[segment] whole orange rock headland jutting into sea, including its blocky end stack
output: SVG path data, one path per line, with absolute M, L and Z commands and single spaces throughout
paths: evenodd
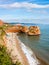
M 28 35 L 39 35 L 40 34 L 40 29 L 38 26 L 30 26 L 29 28 L 27 26 L 22 26 L 22 25 L 14 25 L 7 29 L 7 32 L 22 32 L 22 33 L 27 33 Z

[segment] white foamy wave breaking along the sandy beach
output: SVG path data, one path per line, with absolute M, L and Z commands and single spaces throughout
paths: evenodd
M 39 60 L 36 58 L 35 54 L 29 47 L 27 47 L 21 41 L 20 41 L 20 46 L 21 46 L 24 54 L 26 55 L 30 65 L 39 65 L 40 64 Z

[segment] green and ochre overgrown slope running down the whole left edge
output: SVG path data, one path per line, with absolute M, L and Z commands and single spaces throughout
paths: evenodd
M 3 26 L 0 26 L 0 65 L 22 65 L 19 61 L 16 61 L 16 63 L 13 64 L 10 54 L 7 54 L 6 52 L 6 47 L 2 45 L 4 43 L 3 36 L 6 34 L 5 30 L 8 27 L 12 27 L 12 25 L 4 24 Z

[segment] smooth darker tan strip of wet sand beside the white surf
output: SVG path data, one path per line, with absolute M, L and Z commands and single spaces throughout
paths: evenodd
M 16 47 L 17 47 L 17 50 L 19 51 L 19 53 L 20 53 L 20 55 L 22 57 L 23 64 L 24 65 L 29 65 L 28 59 L 26 58 L 24 52 L 22 51 L 21 46 L 20 46 L 20 42 L 19 42 L 18 39 L 16 40 Z

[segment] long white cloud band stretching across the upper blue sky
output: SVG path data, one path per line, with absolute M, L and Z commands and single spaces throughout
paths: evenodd
M 33 3 L 28 3 L 28 2 L 15 2 L 12 4 L 0 4 L 0 8 L 27 8 L 27 9 L 49 8 L 49 4 L 48 5 L 39 5 L 39 4 L 33 4 Z

